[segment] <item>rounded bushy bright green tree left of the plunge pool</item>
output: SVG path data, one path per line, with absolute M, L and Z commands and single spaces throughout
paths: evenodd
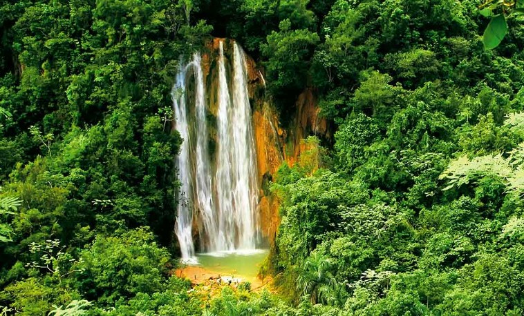
M 80 254 L 75 267 L 79 291 L 102 306 L 114 306 L 122 297 L 154 293 L 167 279 L 169 253 L 158 248 L 145 229 L 121 237 L 99 236 Z

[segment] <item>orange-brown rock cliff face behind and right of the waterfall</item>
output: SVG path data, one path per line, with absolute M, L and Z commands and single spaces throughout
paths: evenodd
M 224 55 L 232 56 L 234 41 L 231 39 L 213 39 L 207 43 L 202 57 L 202 68 L 205 86 L 209 100 L 209 112 L 216 116 L 216 100 L 218 89 L 218 46 L 223 41 Z M 279 166 L 286 161 L 290 166 L 298 161 L 301 152 L 308 150 L 301 141 L 309 135 L 329 136 L 326 119 L 319 117 L 317 98 L 312 89 L 304 90 L 297 98 L 295 115 L 290 126 L 281 126 L 279 114 L 271 99 L 265 93 L 263 69 L 246 55 L 247 89 L 252 107 L 252 124 L 256 148 L 256 164 L 258 168 L 259 214 L 261 233 L 272 242 L 279 226 L 279 202 L 270 195 L 268 182 L 274 177 Z M 226 69 L 230 72 L 230 69 Z M 230 76 L 231 77 L 231 76 Z M 209 119 L 213 119 L 210 117 Z M 209 146 L 213 147 L 216 130 L 209 130 Z

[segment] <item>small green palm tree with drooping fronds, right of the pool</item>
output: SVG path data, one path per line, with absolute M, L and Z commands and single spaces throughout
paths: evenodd
M 324 255 L 311 253 L 299 271 L 297 290 L 301 295 L 308 295 L 312 304 L 333 304 L 331 301 L 337 296 L 339 286 L 332 269 L 333 265 Z

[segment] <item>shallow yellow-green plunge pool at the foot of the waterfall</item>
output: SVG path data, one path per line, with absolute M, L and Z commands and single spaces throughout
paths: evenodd
M 196 257 L 185 261 L 185 264 L 198 266 L 216 275 L 227 275 L 253 283 L 268 253 L 268 249 L 197 253 Z

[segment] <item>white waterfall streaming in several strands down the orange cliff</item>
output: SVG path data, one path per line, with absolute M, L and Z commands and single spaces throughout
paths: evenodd
M 214 98 L 206 95 L 204 82 L 200 55 L 195 54 L 178 73 L 173 93 L 175 127 L 184 139 L 177 159 L 182 185 L 175 232 L 185 261 L 194 260 L 193 221 L 198 223 L 200 248 L 208 253 L 254 250 L 259 233 L 256 153 L 240 46 L 234 43 L 228 61 L 223 41 L 219 43 L 216 113 L 206 104 Z M 212 115 L 215 119 L 210 120 Z M 216 130 L 213 153 L 210 129 Z

